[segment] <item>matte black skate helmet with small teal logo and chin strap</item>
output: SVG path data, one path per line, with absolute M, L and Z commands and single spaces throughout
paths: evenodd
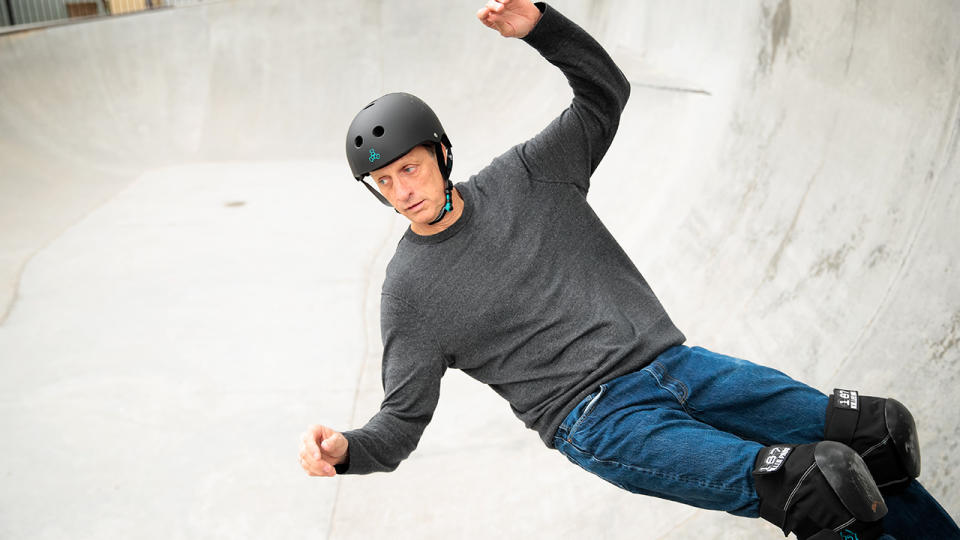
M 445 161 L 441 143 L 447 148 Z M 353 177 L 380 202 L 392 207 L 376 188 L 363 181 L 363 177 L 370 171 L 389 165 L 420 144 L 433 144 L 447 195 L 447 204 L 437 219 L 431 222 L 436 223 L 452 209 L 450 170 L 453 168 L 453 152 L 440 120 L 423 100 L 412 94 L 397 92 L 380 97 L 364 107 L 347 130 L 347 162 Z

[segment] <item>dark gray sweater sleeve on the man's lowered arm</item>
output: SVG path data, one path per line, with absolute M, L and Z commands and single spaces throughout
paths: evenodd
M 383 402 L 367 424 L 344 432 L 345 474 L 392 471 L 417 447 L 440 398 L 446 363 L 416 310 L 384 293 L 380 303 L 383 338 Z

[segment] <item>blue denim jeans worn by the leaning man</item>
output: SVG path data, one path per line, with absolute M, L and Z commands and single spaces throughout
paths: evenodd
M 677 346 L 584 398 L 560 425 L 554 445 L 633 493 L 758 517 L 751 474 L 757 452 L 823 440 L 827 402 L 775 369 Z M 933 501 L 926 492 L 915 495 Z

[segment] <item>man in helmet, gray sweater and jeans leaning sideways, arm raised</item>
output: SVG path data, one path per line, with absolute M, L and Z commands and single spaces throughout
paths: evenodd
M 560 68 L 573 102 L 457 185 L 450 138 L 418 98 L 388 94 L 357 114 L 346 141 L 354 177 L 369 175 L 375 187 L 364 186 L 410 228 L 381 296 L 381 409 L 360 429 L 309 428 L 304 470 L 395 469 L 430 422 L 445 370 L 457 368 L 548 447 L 624 489 L 763 517 L 799 538 L 880 537 L 878 484 L 922 489 L 907 409 L 843 390 L 828 398 L 684 346 L 586 201 L 626 78 L 544 4 L 491 1 L 477 15 Z

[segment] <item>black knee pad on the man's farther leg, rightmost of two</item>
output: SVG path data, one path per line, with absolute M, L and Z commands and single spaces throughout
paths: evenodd
M 877 485 L 906 485 L 920 476 L 920 442 L 913 415 L 895 399 L 836 389 L 827 406 L 824 438 L 853 448 Z

